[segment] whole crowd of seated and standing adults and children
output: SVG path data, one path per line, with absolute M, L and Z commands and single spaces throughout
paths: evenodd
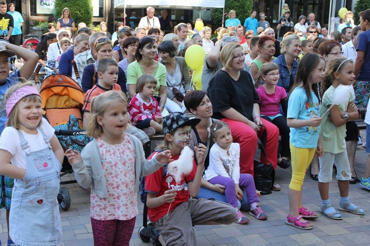
M 0 11 L 4 5 L 0 2 Z M 9 10 L 14 14 L 14 4 Z M 358 27 L 348 11 L 336 31 L 340 36 L 328 35 L 313 13 L 307 22 L 300 16 L 294 24 L 284 6 L 277 39 L 264 13 L 257 21 L 256 10 L 244 25 L 230 10 L 225 28 L 218 28 L 213 39 L 210 27 L 174 26 L 167 11 L 160 18 L 154 13 L 148 7 L 136 29 L 118 22 L 111 35 L 105 22 L 101 32 L 79 23 L 73 34 L 74 20 L 65 8 L 35 51 L 8 42 L 11 26 L 0 40 L 0 181 L 5 190 L 1 206 L 9 214 L 8 245 L 60 243 L 56 199 L 64 155 L 77 182 L 91 187 L 95 245 L 129 244 L 141 176 L 146 176 L 142 192 L 148 217 L 165 245 L 196 244 L 192 225 L 248 223 L 240 210 L 267 219 L 253 178 L 259 138 L 265 140 L 261 163 L 275 170 L 292 167 L 286 224 L 309 230 L 313 225 L 306 219 L 318 218 L 302 203 L 308 169 L 318 181 L 321 213 L 342 219 L 329 199 L 334 164 L 338 210 L 365 214 L 350 202 L 349 184 L 360 182 L 370 190 L 370 158 L 364 177 L 357 178 L 354 169 L 359 140 L 354 121 L 370 107 L 369 9 L 360 13 Z M 174 32 L 164 35 L 170 28 Z M 194 71 L 184 58 L 191 45 L 202 46 L 206 54 L 201 90 L 194 89 Z M 9 74 L 8 58 L 15 55 L 24 64 Z M 37 64 L 47 74 L 72 77 L 85 92 L 83 128 L 94 140 L 81 153 L 63 153 L 54 129 L 42 118 L 37 88 L 21 81 Z M 337 104 L 333 94 L 342 85 L 355 91 Z M 365 122 L 370 124 L 370 115 Z M 157 132 L 164 141 L 146 160 L 143 144 Z M 365 146 L 370 153 L 370 144 Z M 175 175 L 176 170 L 184 171 Z M 281 187 L 273 182 L 270 189 Z

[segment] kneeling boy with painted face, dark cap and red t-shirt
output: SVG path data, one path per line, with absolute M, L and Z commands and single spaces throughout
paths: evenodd
M 165 140 L 160 148 L 171 150 L 173 160 L 180 157 L 185 146 L 190 145 L 191 129 L 200 119 L 189 119 L 184 113 L 174 112 L 163 118 Z M 163 168 L 146 177 L 148 216 L 154 223 L 165 245 L 196 245 L 192 225 L 231 224 L 237 221 L 236 211 L 231 206 L 206 199 L 193 199 L 198 194 L 203 175 L 206 146 L 194 147 L 195 160 L 188 165 L 193 169 L 176 182 Z M 152 158 L 158 152 L 154 152 Z M 163 177 L 162 177 L 163 176 Z M 185 190 L 185 184 L 188 189 Z M 164 217 L 166 218 L 164 219 Z

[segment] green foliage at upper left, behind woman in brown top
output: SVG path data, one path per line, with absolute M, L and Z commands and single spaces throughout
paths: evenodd
M 80 22 L 89 25 L 92 21 L 91 0 L 55 0 L 54 8 L 54 17 L 56 20 L 62 16 L 64 8 L 69 8 L 76 27 Z

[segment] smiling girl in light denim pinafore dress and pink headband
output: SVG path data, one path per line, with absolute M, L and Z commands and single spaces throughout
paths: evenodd
M 63 149 L 42 118 L 32 83 L 10 87 L 4 101 L 8 122 L 0 137 L 0 174 L 15 178 L 10 237 L 16 245 L 55 246 L 62 238 L 57 195 Z

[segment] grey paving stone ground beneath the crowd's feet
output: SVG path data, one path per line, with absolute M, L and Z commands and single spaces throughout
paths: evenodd
M 365 136 L 365 131 L 361 131 Z M 365 138 L 364 138 L 365 140 Z M 368 154 L 361 145 L 357 147 L 355 166 L 357 176 L 364 174 L 365 163 Z M 63 180 L 74 179 L 74 175 L 62 177 Z M 276 246 L 340 246 L 340 245 L 369 245 L 370 242 L 370 192 L 360 188 L 358 184 L 350 184 L 351 202 L 362 207 L 365 215 L 355 215 L 349 212 L 341 212 L 343 220 L 332 220 L 320 214 L 320 196 L 317 182 L 306 176 L 303 184 L 303 204 L 309 209 L 316 211 L 319 217 L 311 220 L 314 225 L 312 230 L 300 230 L 285 224 L 286 215 L 289 211 L 288 185 L 291 178 L 291 168 L 276 171 L 276 182 L 282 187 L 281 191 L 273 191 L 270 195 L 261 196 L 261 207 L 267 213 L 267 220 L 257 220 L 251 217 L 248 224 L 239 225 L 202 225 L 195 226 L 194 232 L 197 243 L 200 246 L 228 245 L 228 246 L 252 246 L 252 245 L 276 245 Z M 82 189 L 78 184 L 65 185 L 71 193 L 72 205 L 69 211 L 60 210 L 63 226 L 63 242 L 60 246 L 92 246 L 93 237 L 90 224 L 90 192 Z M 339 204 L 339 192 L 333 174 L 330 183 L 330 198 L 333 207 L 337 209 Z M 134 233 L 131 237 L 131 246 L 149 246 L 151 243 L 143 243 L 138 238 L 138 230 L 143 221 L 143 204 L 138 199 L 139 212 Z M 248 212 L 245 212 L 248 214 Z M 37 218 L 35 218 L 37 219 Z M 0 239 L 6 242 L 7 227 L 5 211 L 0 211 Z

